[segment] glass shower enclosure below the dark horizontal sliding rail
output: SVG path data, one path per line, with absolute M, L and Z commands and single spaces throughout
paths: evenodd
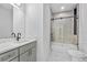
M 75 43 L 74 17 L 57 18 L 52 21 L 52 42 Z

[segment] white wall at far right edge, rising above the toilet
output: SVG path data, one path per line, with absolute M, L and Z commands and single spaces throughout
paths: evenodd
M 87 53 L 87 3 L 79 4 L 79 50 Z

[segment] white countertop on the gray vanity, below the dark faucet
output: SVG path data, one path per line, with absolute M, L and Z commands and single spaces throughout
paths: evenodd
M 7 51 L 20 47 L 24 44 L 31 43 L 36 41 L 36 39 L 30 40 L 30 39 L 25 39 L 25 40 L 21 40 L 21 41 L 8 41 L 8 42 L 2 42 L 0 43 L 0 54 L 4 53 Z

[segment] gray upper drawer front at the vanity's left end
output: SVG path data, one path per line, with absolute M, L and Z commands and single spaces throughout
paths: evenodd
M 0 55 L 0 62 L 9 62 L 10 59 L 18 56 L 18 50 L 13 50 Z

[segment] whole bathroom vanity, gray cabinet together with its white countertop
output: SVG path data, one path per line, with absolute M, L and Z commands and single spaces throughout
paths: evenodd
M 0 62 L 36 62 L 36 41 L 0 44 Z

